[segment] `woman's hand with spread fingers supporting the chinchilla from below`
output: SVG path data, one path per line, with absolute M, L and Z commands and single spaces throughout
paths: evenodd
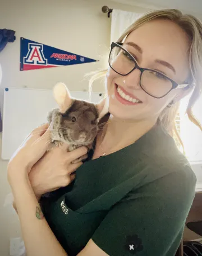
M 71 164 L 72 161 L 84 156 L 88 152 L 86 147 L 67 152 L 67 145 L 55 147 L 32 167 L 29 173 L 31 187 L 39 199 L 44 193 L 66 187 L 75 179 L 74 171 L 82 162 Z

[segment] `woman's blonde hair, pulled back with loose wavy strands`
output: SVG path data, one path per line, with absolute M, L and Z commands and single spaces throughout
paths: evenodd
M 125 32 L 118 38 L 117 42 L 123 42 L 123 40 L 130 34 L 133 30 L 139 28 L 141 25 L 148 23 L 148 21 L 155 19 L 166 19 L 171 20 L 178 24 L 187 34 L 190 39 L 190 49 L 189 49 L 189 65 L 190 65 L 190 76 L 188 79 L 189 85 L 193 88 L 192 95 L 189 99 L 187 105 L 186 113 L 191 122 L 195 123 L 200 130 L 202 127 L 199 121 L 196 119 L 192 113 L 192 107 L 194 106 L 196 100 L 201 94 L 202 88 L 202 23 L 199 19 L 192 15 L 183 15 L 181 11 L 170 9 L 170 10 L 157 10 L 151 11 L 144 16 L 141 16 L 133 24 L 128 27 Z M 92 83 L 102 76 L 105 76 L 107 69 L 101 70 L 99 72 L 94 72 L 93 76 L 89 81 L 89 88 L 91 90 Z M 173 138 L 177 137 L 178 141 L 182 144 L 182 140 L 177 133 L 175 118 L 179 108 L 179 101 L 173 104 L 170 108 L 165 108 L 160 114 L 158 121 L 161 125 L 168 131 Z

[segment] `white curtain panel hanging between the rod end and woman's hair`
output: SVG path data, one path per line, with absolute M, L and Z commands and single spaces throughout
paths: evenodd
M 111 43 L 116 42 L 121 34 L 143 14 L 113 9 L 111 23 Z

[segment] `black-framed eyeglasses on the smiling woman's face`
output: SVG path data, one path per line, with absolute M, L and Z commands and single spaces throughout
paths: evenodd
M 112 43 L 109 54 L 109 66 L 121 76 L 127 76 L 133 70 L 140 70 L 140 87 L 147 94 L 160 99 L 173 89 L 184 88 L 188 84 L 179 85 L 166 75 L 149 68 L 140 68 L 134 56 L 122 47 L 123 43 Z

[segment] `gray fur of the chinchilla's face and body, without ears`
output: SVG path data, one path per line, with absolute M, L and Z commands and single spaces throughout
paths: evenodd
M 74 123 L 71 121 L 71 116 L 76 117 Z M 59 112 L 58 108 L 53 109 L 47 117 L 51 127 L 51 147 L 49 150 L 62 143 L 67 144 L 69 152 L 82 145 L 90 149 L 98 133 L 98 117 L 98 110 L 95 105 L 82 100 L 74 100 L 70 108 L 63 114 Z

